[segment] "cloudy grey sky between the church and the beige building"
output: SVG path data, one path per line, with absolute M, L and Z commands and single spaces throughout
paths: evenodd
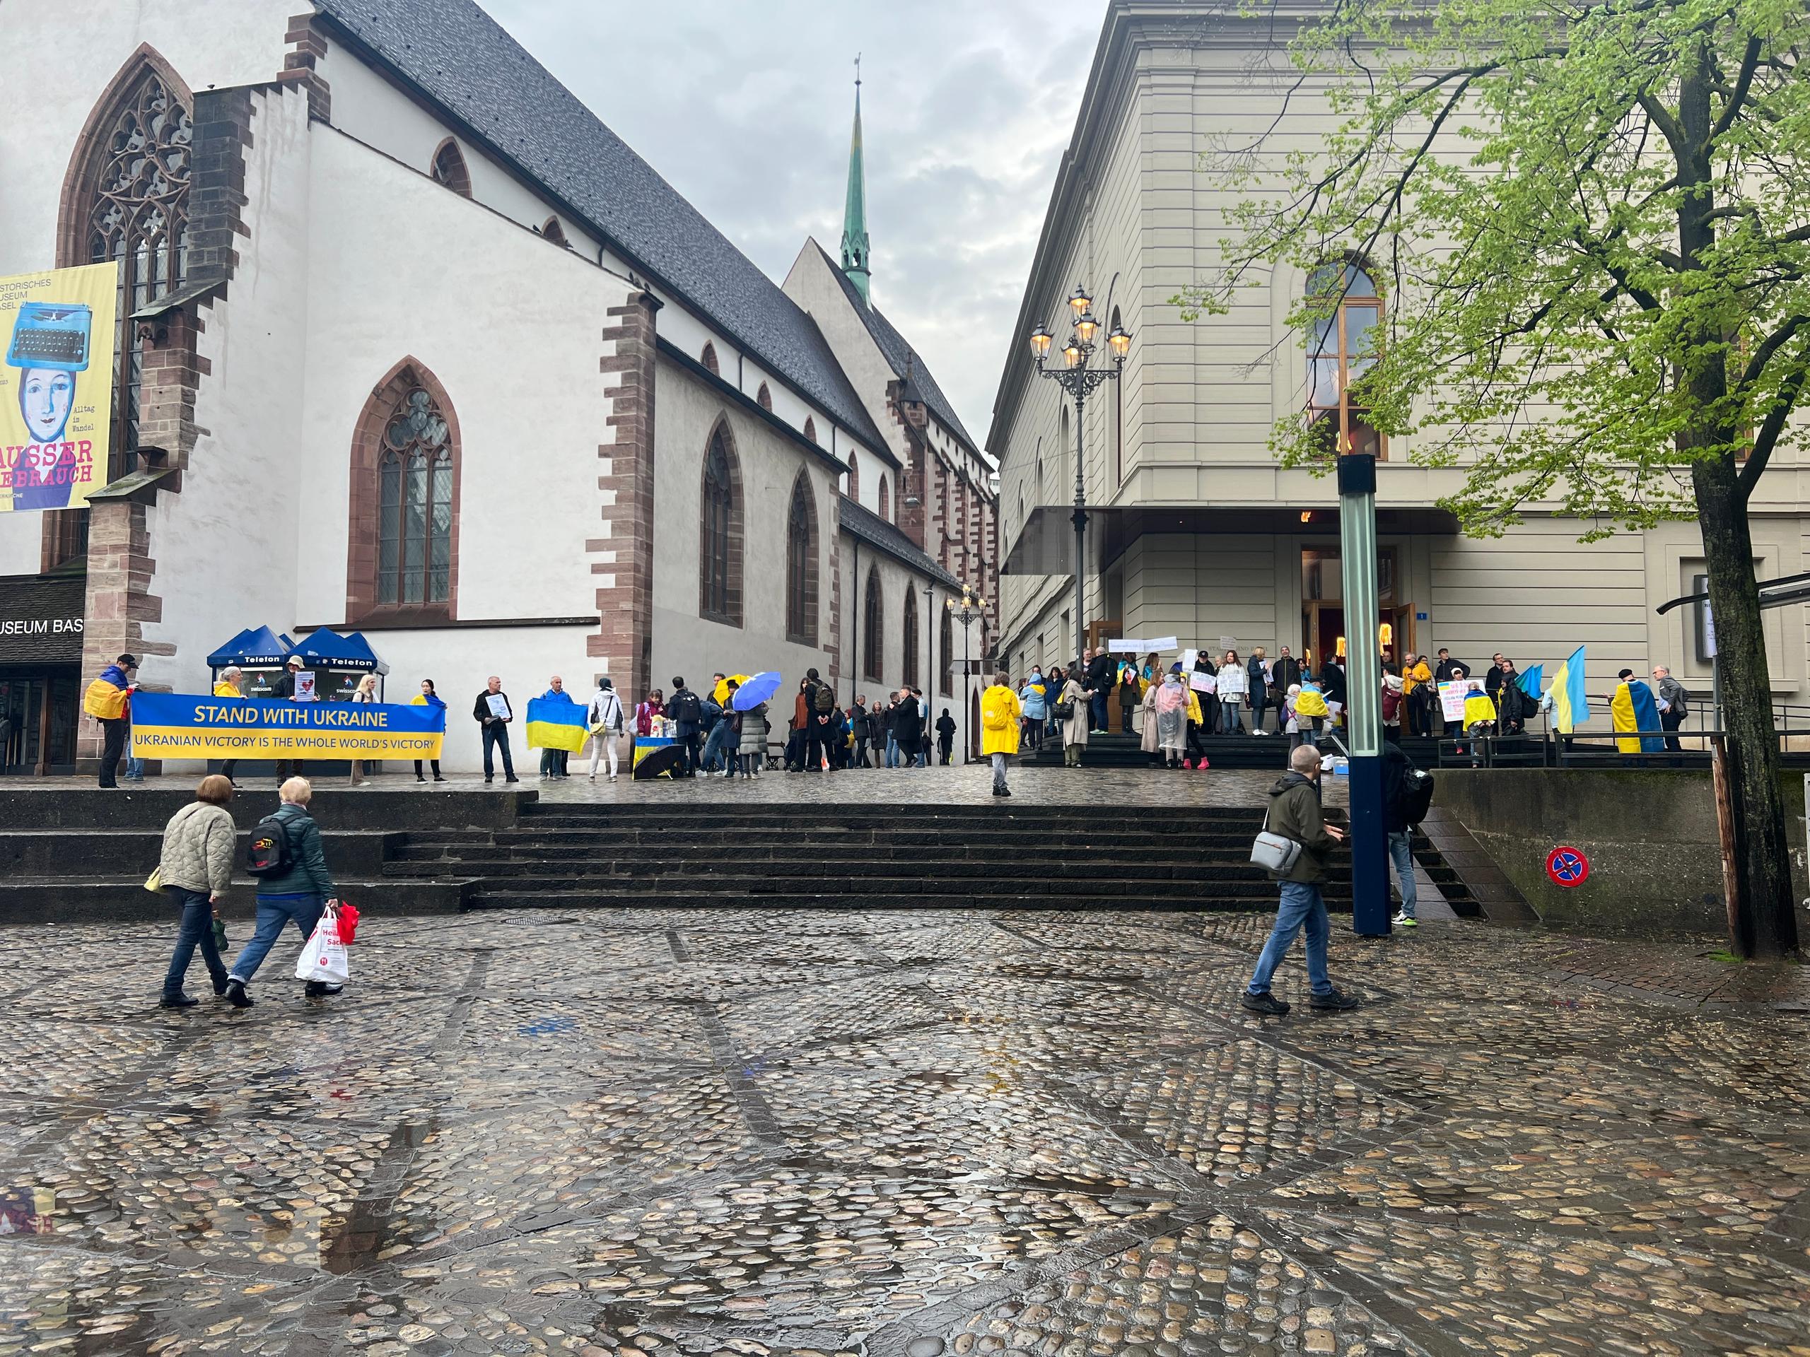
M 862 52 L 874 302 L 986 438 L 1104 0 L 481 0 L 775 280 L 834 257 Z

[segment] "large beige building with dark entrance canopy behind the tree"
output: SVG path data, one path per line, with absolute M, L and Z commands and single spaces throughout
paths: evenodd
M 1133 333 L 1122 380 L 1086 403 L 1082 621 L 1097 635 L 1173 633 L 1182 646 L 1215 648 L 1233 637 L 1242 653 L 1265 646 L 1271 655 L 1281 644 L 1319 655 L 1345 633 L 1336 487 L 1278 469 L 1267 447 L 1280 418 L 1338 405 L 1325 378 L 1310 389 L 1305 337 L 1285 327 L 1305 279 L 1271 277 L 1231 315 L 1195 324 L 1169 302 L 1211 273 L 1229 230 L 1229 190 L 1202 172 L 1202 152 L 1272 123 L 1278 147 L 1300 148 L 1327 127 L 1312 98 L 1285 101 L 1296 72 L 1271 29 L 1229 9 L 1108 7 L 986 440 L 1001 474 L 999 653 L 1014 671 L 1068 659 L 1075 644 L 1073 579 L 1044 574 L 1072 570 L 1073 407 L 1037 378 L 1024 338 L 1039 322 L 1068 333 L 1064 299 L 1077 284 L 1093 289 L 1102 324 Z M 1347 300 L 1347 337 L 1372 324 L 1379 306 Z M 1336 384 L 1336 371 L 1327 376 Z M 1586 546 L 1578 536 L 1587 525 L 1537 508 L 1504 537 L 1470 539 L 1437 507 L 1461 472 L 1414 465 L 1406 440 L 1381 452 L 1379 621 L 1392 626 L 1396 653 L 1446 646 L 1484 664 L 1500 650 L 1522 669 L 1546 662 L 1551 673 L 1587 644 L 1593 695 L 1620 668 L 1645 673 L 1653 664 L 1707 693 L 1694 610 L 1654 615 L 1703 574 L 1692 523 Z M 1776 456 L 1754 498 L 1761 579 L 1806 568 L 1806 510 L 1805 467 Z M 1805 702 L 1801 612 L 1768 612 L 1767 628 L 1779 700 Z

